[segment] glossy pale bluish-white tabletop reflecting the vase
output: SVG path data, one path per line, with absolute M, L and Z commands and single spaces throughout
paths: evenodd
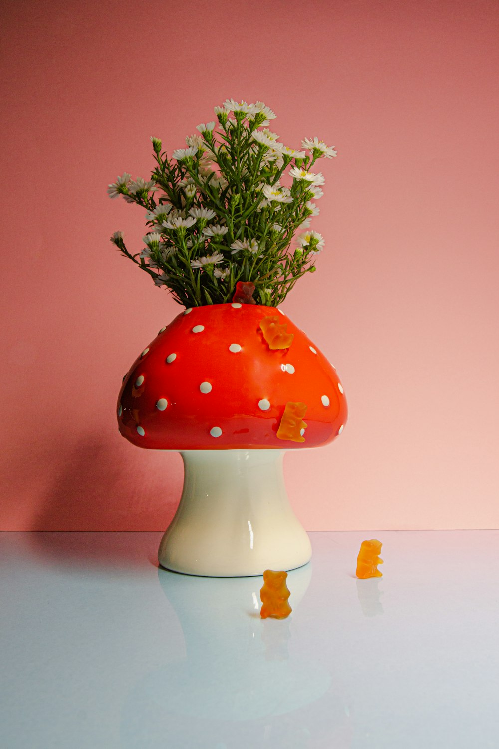
M 499 531 L 310 537 L 264 620 L 261 577 L 159 569 L 160 533 L 0 534 L 0 747 L 497 749 Z

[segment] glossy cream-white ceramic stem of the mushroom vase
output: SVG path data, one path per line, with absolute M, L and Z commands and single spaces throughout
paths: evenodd
M 284 485 L 284 450 L 189 450 L 181 455 L 183 493 L 159 545 L 163 567 L 207 577 L 245 577 L 310 561 L 310 539 Z

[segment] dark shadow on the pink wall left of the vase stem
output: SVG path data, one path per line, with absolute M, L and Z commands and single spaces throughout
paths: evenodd
M 138 481 L 137 462 L 109 441 L 91 435 L 60 449 L 52 455 L 52 485 L 40 498 L 31 530 L 164 531 L 180 500 L 181 458 L 141 452 Z

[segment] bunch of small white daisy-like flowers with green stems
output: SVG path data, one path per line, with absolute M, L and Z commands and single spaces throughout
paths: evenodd
M 125 172 L 109 185 L 111 198 L 147 209 L 149 226 L 135 255 L 121 231 L 111 242 L 186 307 L 228 302 L 237 282 L 254 285 L 257 303 L 277 306 L 316 270 L 324 240 L 309 226 L 324 177 L 310 168 L 336 151 L 317 138 L 304 139 L 304 151 L 283 145 L 268 129 L 276 115 L 263 102 L 230 99 L 215 115 L 218 127 L 198 125 L 169 159 L 151 137 L 157 166 L 150 181 Z

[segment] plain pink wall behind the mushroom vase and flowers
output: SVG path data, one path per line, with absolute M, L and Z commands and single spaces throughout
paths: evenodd
M 499 527 L 499 5 L 130 0 L 4 7 L 1 528 L 163 530 L 177 454 L 117 431 L 121 378 L 180 312 L 108 237 L 111 201 L 227 97 L 315 135 L 326 246 L 283 309 L 349 422 L 288 454 L 307 530 Z

